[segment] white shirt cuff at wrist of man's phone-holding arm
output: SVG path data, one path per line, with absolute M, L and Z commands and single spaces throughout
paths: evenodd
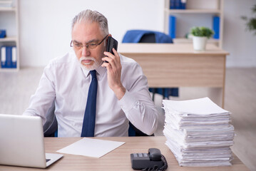
M 136 104 L 138 100 L 133 97 L 131 93 L 126 90 L 125 95 L 123 95 L 123 98 L 121 98 L 118 103 L 121 106 L 124 113 L 128 113 Z

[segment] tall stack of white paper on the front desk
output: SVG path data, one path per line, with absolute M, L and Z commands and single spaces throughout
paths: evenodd
M 180 166 L 231 165 L 230 112 L 209 98 L 163 100 L 166 145 Z

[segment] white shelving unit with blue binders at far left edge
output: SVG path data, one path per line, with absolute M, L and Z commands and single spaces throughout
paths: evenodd
M 6 30 L 6 38 L 0 38 L 1 46 L 16 46 L 16 68 L 1 68 L 2 71 L 19 71 L 19 0 L 13 5 L 0 7 L 0 29 Z

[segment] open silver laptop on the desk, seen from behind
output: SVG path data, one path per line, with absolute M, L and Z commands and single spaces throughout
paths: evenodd
M 46 168 L 61 157 L 45 153 L 40 117 L 0 114 L 0 165 Z

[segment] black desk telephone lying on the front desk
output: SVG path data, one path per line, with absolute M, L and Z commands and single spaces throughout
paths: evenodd
M 157 148 L 148 149 L 148 153 L 130 154 L 130 161 L 134 170 L 164 171 L 168 167 L 165 157 Z

